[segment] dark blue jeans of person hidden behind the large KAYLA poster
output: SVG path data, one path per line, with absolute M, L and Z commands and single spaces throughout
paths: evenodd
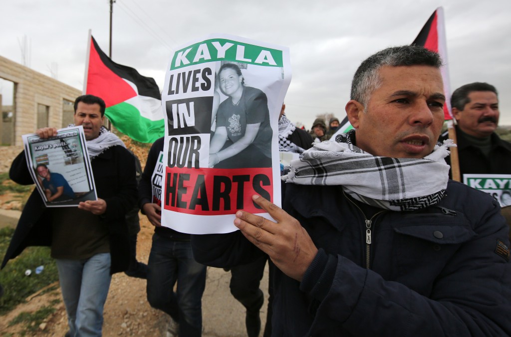
M 194 260 L 190 242 L 174 241 L 154 233 L 147 266 L 149 304 L 179 323 L 180 336 L 200 336 L 206 266 Z

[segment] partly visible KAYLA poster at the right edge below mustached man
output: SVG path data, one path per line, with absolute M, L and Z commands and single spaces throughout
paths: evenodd
M 463 174 L 463 184 L 494 197 L 501 207 L 511 206 L 511 174 Z

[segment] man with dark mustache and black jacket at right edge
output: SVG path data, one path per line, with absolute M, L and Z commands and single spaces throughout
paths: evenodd
M 457 88 L 451 98 L 452 113 L 458 122 L 459 170 L 463 174 L 511 174 L 511 144 L 495 133 L 499 123 L 497 89 L 475 82 Z M 447 139 L 447 132 L 442 140 Z M 450 165 L 449 158 L 446 162 Z

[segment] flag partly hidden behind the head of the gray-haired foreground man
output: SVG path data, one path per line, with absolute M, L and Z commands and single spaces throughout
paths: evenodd
M 429 17 L 426 25 L 412 44 L 423 46 L 433 52 L 437 52 L 444 61 L 444 66 L 440 69 L 444 79 L 444 94 L 446 95 L 446 104 L 444 105 L 444 116 L 446 120 L 452 120 L 451 112 L 451 86 L 449 81 L 449 68 L 447 61 L 447 43 L 445 33 L 444 9 L 438 7 Z

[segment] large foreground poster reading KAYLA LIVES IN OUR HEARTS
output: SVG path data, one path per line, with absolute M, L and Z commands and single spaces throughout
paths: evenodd
M 172 54 L 153 174 L 162 226 L 229 233 L 239 209 L 270 218 L 252 195 L 281 206 L 278 115 L 290 81 L 289 49 L 269 43 L 215 34 Z

